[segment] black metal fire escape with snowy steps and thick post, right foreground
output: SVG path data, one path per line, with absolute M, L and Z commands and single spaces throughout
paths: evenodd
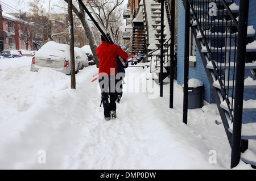
M 183 0 L 184 7 L 186 5 L 189 7 L 187 9 L 191 22 L 189 26 L 192 27 L 232 148 L 231 167 L 234 167 L 240 160 L 241 151 L 248 148 L 249 140 L 256 138 L 256 130 L 253 134 L 247 134 L 246 131 L 241 134 L 242 113 L 253 114 L 256 111 L 256 107 L 250 109 L 243 107 L 243 87 L 256 89 L 256 86 L 245 86 L 243 82 L 246 69 L 250 69 L 255 76 L 256 67 L 251 64 L 249 55 L 256 52 L 256 49 L 249 46 L 246 49 L 246 44 L 250 43 L 250 37 L 254 36 L 254 33 L 250 34 L 249 31 L 247 33 L 246 30 L 249 28 L 247 24 L 240 26 L 237 21 L 239 15 L 240 21 L 247 22 L 249 0 L 240 2 L 240 11 L 230 9 L 232 3 L 232 0 Z M 250 123 L 246 124 L 245 128 L 250 128 Z M 246 159 L 243 161 L 256 164 Z

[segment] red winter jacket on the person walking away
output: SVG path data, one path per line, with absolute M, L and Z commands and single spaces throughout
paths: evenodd
M 99 75 L 116 75 L 117 74 L 117 56 L 123 59 L 128 58 L 128 54 L 118 45 L 102 41 L 102 44 L 96 49 L 97 56 L 100 59 Z M 112 69 L 113 68 L 113 69 Z M 110 72 L 110 69 L 112 71 Z

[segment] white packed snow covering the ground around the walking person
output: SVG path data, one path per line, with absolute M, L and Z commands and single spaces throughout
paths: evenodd
M 127 68 L 117 118 L 106 122 L 96 66 L 80 70 L 72 90 L 70 76 L 31 72 L 30 61 L 0 59 L 0 169 L 229 169 L 216 106 L 189 110 L 183 124 L 183 92 L 175 85 L 170 109 L 168 78 L 159 98 L 147 70 Z

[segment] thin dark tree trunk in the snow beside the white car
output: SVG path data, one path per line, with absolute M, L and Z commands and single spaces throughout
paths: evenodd
M 73 27 L 73 11 L 72 0 L 68 0 L 68 21 L 70 33 L 70 58 L 71 58 L 71 89 L 76 89 L 76 73 L 75 73 L 75 53 L 74 53 L 74 27 Z

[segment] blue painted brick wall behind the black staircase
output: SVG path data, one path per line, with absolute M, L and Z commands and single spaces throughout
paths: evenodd
M 234 0 L 239 6 L 240 0 Z M 178 30 L 177 30 L 177 83 L 183 85 L 184 81 L 184 29 L 185 29 L 185 9 L 183 2 L 180 0 L 178 3 Z M 249 20 L 248 25 L 253 25 L 256 29 L 256 0 L 250 0 Z M 256 36 L 250 39 L 250 42 L 256 40 Z M 256 60 L 256 58 L 255 58 Z M 245 71 L 245 78 L 252 77 L 250 70 Z M 189 79 L 196 78 L 204 83 L 204 100 L 208 103 L 215 103 L 212 90 L 210 89 L 209 81 L 199 51 L 196 49 L 196 66 L 189 66 Z M 256 99 L 256 90 L 245 89 L 245 100 Z M 256 112 L 243 113 L 243 123 L 256 122 Z

